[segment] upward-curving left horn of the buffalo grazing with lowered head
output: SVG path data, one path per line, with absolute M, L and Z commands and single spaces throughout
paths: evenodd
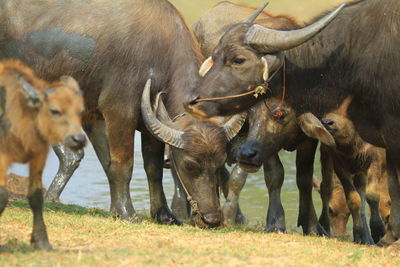
M 172 129 L 162 122 L 160 122 L 153 109 L 151 108 L 150 104 L 150 87 L 151 87 L 151 79 L 148 79 L 146 85 L 144 87 L 143 95 L 142 95 L 142 103 L 141 103 L 141 111 L 142 111 L 142 118 L 146 128 L 149 132 L 154 135 L 160 141 L 174 146 L 176 148 L 183 148 L 183 139 L 182 131 L 178 131 Z

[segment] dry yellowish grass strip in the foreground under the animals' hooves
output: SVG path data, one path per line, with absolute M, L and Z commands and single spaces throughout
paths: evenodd
M 0 220 L 0 266 L 400 266 L 400 253 L 262 229 L 130 224 L 101 210 L 47 204 L 51 252 L 29 246 L 31 212 L 12 202 Z

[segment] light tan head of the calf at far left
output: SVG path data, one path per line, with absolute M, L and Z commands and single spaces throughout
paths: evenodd
M 19 82 L 28 105 L 38 112 L 37 130 L 48 143 L 64 143 L 71 149 L 85 146 L 86 137 L 81 123 L 83 97 L 72 77 L 62 76 L 59 81 L 41 90 L 23 76 L 19 77 Z

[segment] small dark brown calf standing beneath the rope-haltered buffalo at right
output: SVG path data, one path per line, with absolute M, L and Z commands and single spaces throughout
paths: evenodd
M 379 216 L 379 193 L 372 190 L 374 184 L 382 183 L 386 175 L 382 168 L 384 150 L 365 142 L 357 133 L 354 124 L 347 118 L 347 108 L 352 98 L 346 98 L 334 112 L 324 116 L 321 122 L 312 114 L 301 128 L 310 137 L 317 138 L 321 145 L 321 162 L 323 171 L 323 186 L 321 190 L 329 192 L 334 173 L 340 180 L 346 196 L 347 206 L 353 217 L 353 235 L 355 242 L 372 243 L 366 225 L 364 205 L 365 200 L 371 207 L 371 230 L 374 241 L 377 242 L 385 233 L 385 227 Z M 372 176 L 372 177 L 369 177 Z M 383 178 L 382 178 L 383 176 Z M 369 199 L 366 187 L 370 185 Z M 375 191 L 375 192 L 374 192 Z M 323 212 L 320 221 L 329 227 L 329 194 L 322 196 Z

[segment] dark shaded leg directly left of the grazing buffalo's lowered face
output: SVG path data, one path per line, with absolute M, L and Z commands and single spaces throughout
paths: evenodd
M 168 207 L 164 195 L 162 176 L 164 144 L 148 132 L 142 132 L 142 154 L 150 191 L 150 214 L 159 223 L 181 224 Z

